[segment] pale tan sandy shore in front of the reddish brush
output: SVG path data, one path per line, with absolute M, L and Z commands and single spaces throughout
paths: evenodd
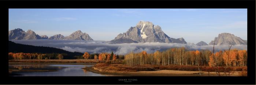
M 116 74 L 123 76 L 199 76 L 198 71 L 179 71 L 179 70 L 156 70 L 156 71 L 139 71 L 139 72 L 117 72 L 115 70 L 103 71 L 94 67 L 83 68 L 94 73 Z M 220 74 L 223 74 L 220 73 Z M 232 73 L 231 73 L 232 74 Z M 239 72 L 234 72 L 232 76 L 238 76 Z M 215 72 L 202 72 L 202 76 L 218 76 Z M 222 75 L 224 76 L 224 75 Z

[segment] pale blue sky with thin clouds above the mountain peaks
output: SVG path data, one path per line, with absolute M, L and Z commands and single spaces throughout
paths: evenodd
M 21 28 L 48 37 L 81 30 L 93 40 L 113 40 L 139 21 L 159 25 L 188 43 L 227 32 L 247 40 L 247 9 L 9 9 L 9 31 Z

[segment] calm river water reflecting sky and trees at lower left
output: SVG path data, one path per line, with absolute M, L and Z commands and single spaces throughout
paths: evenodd
M 92 65 L 66 65 L 66 64 L 10 64 L 9 70 L 13 74 L 22 76 L 118 76 L 89 72 L 86 66 Z

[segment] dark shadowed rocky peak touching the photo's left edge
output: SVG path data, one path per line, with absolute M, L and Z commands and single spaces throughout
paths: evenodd
M 14 30 L 9 31 L 8 35 L 9 35 L 8 37 L 9 40 L 13 40 L 13 39 L 22 40 L 23 37 L 26 35 L 26 32 L 20 28 L 16 28 Z

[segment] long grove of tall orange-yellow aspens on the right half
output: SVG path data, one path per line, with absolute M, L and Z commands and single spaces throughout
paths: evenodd
M 233 51 L 233 50 L 232 50 Z M 227 54 L 220 50 L 219 52 L 212 53 L 210 50 L 186 50 L 186 48 L 170 48 L 165 51 L 156 51 L 153 53 L 146 53 L 146 51 L 142 51 L 139 53 L 128 53 L 125 55 L 125 63 L 127 65 L 201 65 L 201 66 L 241 66 L 241 64 L 245 64 L 247 53 L 246 50 L 241 51 L 240 55 L 237 52 L 234 52 L 236 56 L 233 56 L 234 59 L 231 59 L 230 51 L 230 59 L 227 62 Z M 241 57 L 240 57 L 241 56 Z M 244 60 L 243 60 L 244 58 Z M 236 60 L 236 61 L 234 61 Z M 231 62 L 232 61 L 232 62 Z M 241 63 L 241 64 L 240 64 Z

